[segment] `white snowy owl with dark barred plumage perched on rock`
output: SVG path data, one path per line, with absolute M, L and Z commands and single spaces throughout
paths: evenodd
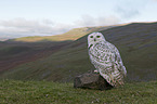
M 100 75 L 113 87 L 123 84 L 127 76 L 118 49 L 107 42 L 101 32 L 88 36 L 88 49 L 91 63 Z

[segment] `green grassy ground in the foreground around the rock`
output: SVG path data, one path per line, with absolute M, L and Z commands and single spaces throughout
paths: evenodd
M 107 91 L 73 83 L 0 81 L 0 104 L 157 104 L 157 81 L 127 83 Z

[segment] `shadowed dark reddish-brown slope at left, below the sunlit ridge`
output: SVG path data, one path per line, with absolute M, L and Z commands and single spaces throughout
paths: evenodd
M 0 74 L 21 64 L 49 56 L 70 42 L 0 42 Z

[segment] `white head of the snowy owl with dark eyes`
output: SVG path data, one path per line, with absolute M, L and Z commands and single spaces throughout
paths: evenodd
M 100 41 L 106 41 L 101 32 L 92 32 L 88 36 L 88 49 Z

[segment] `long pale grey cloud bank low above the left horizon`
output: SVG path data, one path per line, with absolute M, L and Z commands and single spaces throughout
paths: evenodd
M 69 30 L 70 26 L 56 24 L 51 20 L 34 21 L 14 18 L 0 21 L 0 38 L 2 37 L 25 37 L 25 36 L 50 36 L 63 34 Z

